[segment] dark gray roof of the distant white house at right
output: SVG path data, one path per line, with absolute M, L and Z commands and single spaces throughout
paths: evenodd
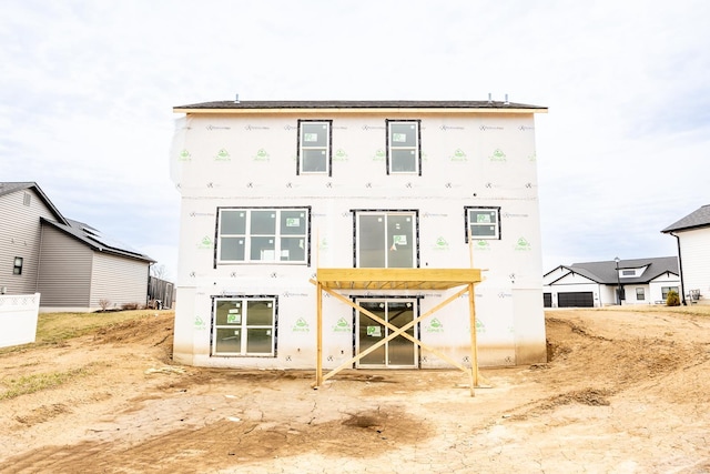
M 648 268 L 640 276 L 633 278 L 618 278 L 617 262 L 613 260 L 605 262 L 572 263 L 571 265 L 560 265 L 559 268 L 567 269 L 572 273 L 577 273 L 601 284 L 617 284 L 619 280 L 621 284 L 648 283 L 651 280 L 662 275 L 663 273 L 672 273 L 674 275 L 679 274 L 677 256 L 658 256 L 651 259 L 632 259 L 619 261 L 619 270 L 638 269 L 647 265 Z

